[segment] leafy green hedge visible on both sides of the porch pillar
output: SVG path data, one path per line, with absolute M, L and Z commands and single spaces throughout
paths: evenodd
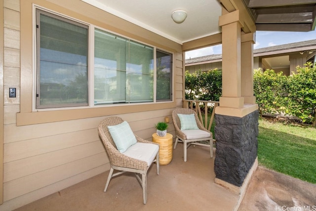
M 186 71 L 186 99 L 219 101 L 222 71 Z M 254 71 L 254 95 L 260 114 L 292 115 L 316 126 L 316 66 L 297 67 L 297 73 L 284 76 L 273 70 Z

